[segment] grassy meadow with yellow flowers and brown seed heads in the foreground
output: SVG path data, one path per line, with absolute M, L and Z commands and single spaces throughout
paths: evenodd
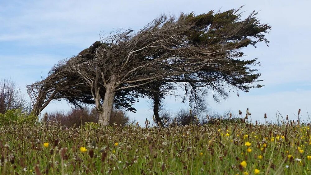
M 311 174 L 310 127 L 0 127 L 1 174 Z

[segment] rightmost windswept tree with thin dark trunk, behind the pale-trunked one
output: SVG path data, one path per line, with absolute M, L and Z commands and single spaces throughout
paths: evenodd
M 185 89 L 185 97 L 188 97 L 189 104 L 196 111 L 204 110 L 206 94 L 212 91 L 214 99 L 219 101 L 219 97 L 225 98 L 229 89 L 240 89 L 248 92 L 252 87 L 262 87 L 261 85 L 253 85 L 258 81 L 260 74 L 253 74 L 255 69 L 251 69 L 250 65 L 255 65 L 257 59 L 240 60 L 238 58 L 244 56 L 242 48 L 248 45 L 255 45 L 264 41 L 265 33 L 270 29 L 267 24 L 260 24 L 255 17 L 256 12 L 252 12 L 246 19 L 241 19 L 241 8 L 229 10 L 226 12 L 210 11 L 207 14 L 195 16 L 194 13 L 182 15 L 181 18 L 187 23 L 193 25 L 191 30 L 184 33 L 188 44 L 201 48 L 221 48 L 227 47 L 227 53 L 223 54 L 223 60 L 227 65 L 211 67 L 209 64 L 201 67 L 199 71 L 184 74 L 173 79 L 164 79 L 163 81 L 183 84 Z M 211 57 L 218 57 L 215 52 Z M 228 68 L 229 67 L 229 68 Z M 159 89 L 160 90 L 160 89 Z M 161 123 L 159 109 L 160 100 L 163 95 L 155 98 L 154 114 L 157 123 Z M 184 100 L 183 99 L 183 100 Z

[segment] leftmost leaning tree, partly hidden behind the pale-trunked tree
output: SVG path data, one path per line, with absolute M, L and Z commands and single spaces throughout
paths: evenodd
M 99 45 L 101 45 L 100 42 L 95 42 L 91 47 L 81 51 L 78 54 L 79 57 L 86 60 L 91 59 Z M 27 92 L 33 103 L 33 114 L 39 115 L 53 100 L 65 99 L 79 108 L 83 108 L 82 104 L 95 104 L 91 89 L 88 88 L 79 74 L 71 70 L 72 65 L 69 64 L 71 59 L 60 61 L 49 71 L 45 79 L 27 86 Z M 132 107 L 132 104 L 146 93 L 145 90 L 137 89 L 118 91 L 115 96 L 114 107 L 117 109 L 124 107 L 128 111 L 135 112 L 136 109 Z M 104 89 L 100 90 L 100 94 L 104 94 Z

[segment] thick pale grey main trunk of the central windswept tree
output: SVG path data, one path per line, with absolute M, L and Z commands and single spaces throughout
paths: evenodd
M 114 90 L 113 84 L 108 84 L 105 92 L 104 103 L 102 105 L 102 111 L 100 111 L 100 116 L 98 123 L 101 126 L 108 126 L 111 117 L 112 109 L 114 106 L 114 95 L 116 91 Z

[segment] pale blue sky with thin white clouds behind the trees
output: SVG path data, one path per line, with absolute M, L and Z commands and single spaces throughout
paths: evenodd
M 210 10 L 225 11 L 239 8 L 247 16 L 253 10 L 262 23 L 272 26 L 267 39 L 269 47 L 258 43 L 258 47 L 244 49 L 243 59 L 258 58 L 262 74 L 260 89 L 249 93 L 231 93 L 227 99 L 216 103 L 210 95 L 206 97 L 210 113 L 231 110 L 234 114 L 246 108 L 252 120 L 276 121 L 276 114 L 289 115 L 297 119 L 301 108 L 301 119 L 309 120 L 311 114 L 311 21 L 309 1 L 292 0 L 2 0 L 0 1 L 0 79 L 11 78 L 26 94 L 26 85 L 45 77 L 58 61 L 77 55 L 100 39 L 100 32 L 112 29 L 139 30 L 160 14 L 179 15 L 180 12 L 195 14 Z M 180 108 L 189 109 L 181 97 L 169 96 L 165 107 L 171 112 Z M 148 100 L 135 104 L 137 113 L 128 113 L 143 124 L 152 112 Z M 69 110 L 66 102 L 53 102 L 44 112 Z M 310 122 L 310 120 L 309 120 Z

